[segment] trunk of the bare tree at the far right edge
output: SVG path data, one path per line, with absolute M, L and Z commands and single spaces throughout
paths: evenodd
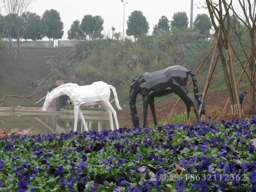
M 251 58 L 250 58 L 250 62 L 249 62 L 249 74 L 252 74 L 252 76 L 254 77 L 255 74 L 255 69 L 254 69 L 254 57 L 255 57 L 255 33 L 254 30 L 250 30 L 250 37 L 251 37 Z M 254 78 L 252 79 L 253 84 L 255 85 L 255 81 Z M 254 96 L 254 89 L 252 84 L 250 84 L 250 88 L 249 88 L 249 95 L 250 98 L 249 100 L 252 102 L 252 109 L 255 108 L 255 96 Z

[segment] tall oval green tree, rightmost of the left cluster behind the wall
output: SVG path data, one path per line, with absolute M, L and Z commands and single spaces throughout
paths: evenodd
M 60 19 L 60 13 L 54 9 L 46 10 L 42 16 L 42 28 L 43 35 L 49 38 L 61 39 L 64 31 L 63 31 L 63 22 Z

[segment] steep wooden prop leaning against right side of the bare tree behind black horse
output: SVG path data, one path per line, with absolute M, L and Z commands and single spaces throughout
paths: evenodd
M 239 102 L 239 97 L 238 97 L 238 91 L 237 91 L 237 86 L 236 86 L 236 77 L 235 77 L 235 70 L 234 70 L 234 64 L 233 64 L 233 58 L 232 58 L 232 53 L 231 53 L 231 48 L 230 48 L 230 41 L 229 41 L 229 37 L 228 37 L 228 54 L 229 54 L 229 59 L 230 59 L 230 67 L 231 67 L 231 73 L 233 74 L 232 75 L 232 81 L 233 81 L 233 84 L 234 84 L 234 91 L 235 91 L 235 97 L 236 97 L 236 104 L 238 105 L 238 115 L 239 115 L 239 118 L 242 117 L 242 109 L 241 109 L 241 106 L 240 106 L 240 102 Z M 234 103 L 234 108 L 235 108 L 235 103 Z M 236 110 L 235 110 L 236 111 Z M 236 114 L 236 112 L 235 112 Z

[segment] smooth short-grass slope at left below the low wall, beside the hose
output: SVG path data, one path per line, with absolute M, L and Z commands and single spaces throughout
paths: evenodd
M 72 47 L 63 48 L 23 48 L 25 60 L 22 54 L 15 60 L 14 53 L 6 59 L 0 60 L 0 70 L 4 74 L 4 82 L 0 88 L 0 99 L 5 95 L 28 96 L 29 82 L 34 79 L 43 79 L 50 73 L 51 66 L 45 64 L 53 59 L 60 63 L 72 50 Z M 0 102 L 0 106 L 16 106 L 23 102 L 24 105 L 33 105 L 29 99 L 7 97 Z

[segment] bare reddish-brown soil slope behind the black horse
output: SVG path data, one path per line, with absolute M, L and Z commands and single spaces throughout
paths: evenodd
M 241 91 L 249 91 L 249 88 L 243 88 L 243 89 L 238 89 L 239 92 Z M 172 93 L 174 94 L 174 93 Z M 191 95 L 194 93 L 190 93 Z M 223 107 L 225 106 L 227 100 L 229 98 L 228 95 L 228 91 L 224 90 L 224 91 L 215 91 L 215 92 L 208 92 L 206 94 L 206 97 L 204 99 L 204 102 L 206 103 L 206 105 L 211 106 L 211 105 L 216 105 L 219 107 Z M 170 111 L 172 110 L 173 106 L 175 105 L 176 101 L 178 99 L 170 99 L 170 100 L 166 100 L 163 102 L 159 102 L 159 103 L 155 103 L 155 109 L 156 109 L 156 119 L 157 121 L 159 121 L 160 119 L 166 117 L 169 115 Z M 256 110 L 251 110 L 249 108 L 249 95 L 246 95 L 244 97 L 244 101 L 243 101 L 243 111 L 244 111 L 244 115 L 242 115 L 241 118 L 239 118 L 239 116 L 232 116 L 231 115 L 231 109 L 229 108 L 228 113 L 226 116 L 224 116 L 223 119 L 225 120 L 232 120 L 233 118 L 239 118 L 239 119 L 246 119 L 246 118 L 251 118 L 253 115 L 256 114 Z M 138 116 L 140 118 L 140 124 L 143 123 L 143 107 L 138 107 L 137 108 L 138 111 Z M 176 113 L 181 113 L 181 112 L 185 112 L 187 111 L 186 105 L 185 103 L 181 100 L 178 104 L 178 106 L 175 108 L 175 112 Z M 130 109 L 123 109 L 122 111 L 116 111 L 117 113 L 117 118 L 118 121 L 121 122 L 125 122 L 127 123 L 127 126 L 132 126 L 132 116 L 130 115 Z M 203 118 L 203 117 L 202 117 Z M 201 118 L 201 120 L 202 120 Z M 147 125 L 153 122 L 153 117 L 152 117 L 152 113 L 151 110 L 148 106 L 148 117 L 147 117 Z

